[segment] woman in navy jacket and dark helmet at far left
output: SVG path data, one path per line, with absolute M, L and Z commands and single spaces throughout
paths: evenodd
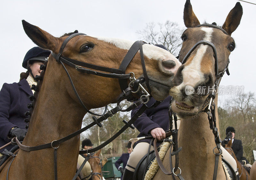
M 24 122 L 25 112 L 28 111 L 29 96 L 33 95 L 31 90 L 34 80 L 41 70 L 40 65 L 47 61 L 50 55 L 49 50 L 39 47 L 30 49 L 23 60 L 22 66 L 28 71 L 20 74 L 20 82 L 4 83 L 0 91 L 0 147 L 10 142 L 12 137 L 23 140 L 26 135 L 26 125 Z M 13 147 L 9 145 L 0 150 L 0 153 Z M 0 154 L 1 156 L 2 154 Z

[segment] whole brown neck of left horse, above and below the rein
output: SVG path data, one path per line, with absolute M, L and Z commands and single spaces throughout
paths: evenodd
M 52 69 L 48 64 L 23 145 L 37 146 L 50 143 L 81 129 L 82 119 L 86 112 L 70 97 L 70 94 L 65 89 L 68 84 L 63 80 L 63 77 L 67 77 L 61 74 L 56 75 L 56 73 L 56 70 Z M 58 178 L 72 179 L 72 176 L 74 176 L 79 151 L 79 139 L 80 136 L 76 136 L 60 144 L 57 150 Z M 27 169 L 34 169 L 34 174 L 30 172 L 21 176 L 28 179 L 35 175 L 42 176 L 45 179 L 54 177 L 52 148 L 29 153 L 20 151 L 19 155 L 19 158 L 15 158 L 18 162 L 17 166 L 21 161 L 24 167 L 19 171 L 20 174 L 24 174 L 23 171 Z M 34 162 L 33 157 L 41 161 Z M 16 164 L 15 162 L 14 168 Z M 45 166 L 45 164 L 48 164 L 48 166 Z M 42 171 L 40 167 L 44 167 L 45 171 Z M 42 174 L 43 172 L 49 173 Z

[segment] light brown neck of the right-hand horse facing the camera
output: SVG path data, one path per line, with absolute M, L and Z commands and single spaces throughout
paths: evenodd
M 218 128 L 217 96 L 215 104 L 216 125 Z M 215 161 L 215 154 L 213 154 L 212 150 L 216 144 L 212 130 L 209 127 L 207 114 L 201 113 L 193 119 L 181 118 L 178 134 L 178 145 L 182 147 L 179 153 L 182 171 L 185 171 L 188 177 L 197 177 L 198 179 L 212 178 Z M 219 159 L 218 170 L 221 170 L 220 168 L 222 168 L 221 159 Z

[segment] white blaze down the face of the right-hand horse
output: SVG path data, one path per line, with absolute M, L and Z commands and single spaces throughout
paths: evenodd
M 213 29 L 211 27 L 201 27 L 201 30 L 205 32 L 203 40 L 211 42 Z M 204 44 L 199 45 L 191 63 L 182 70 L 183 82 L 179 85 L 180 87 L 187 85 L 195 87 L 197 84 L 204 82 L 204 74 L 201 72 L 201 62 L 208 47 L 208 45 Z

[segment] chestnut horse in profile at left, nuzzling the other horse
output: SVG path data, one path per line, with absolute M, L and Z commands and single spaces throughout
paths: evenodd
M 67 38 L 54 37 L 24 20 L 22 24 L 34 43 L 55 54 L 59 53 L 62 43 Z M 115 38 L 77 35 L 68 41 L 63 56 L 118 69 L 132 44 L 132 41 Z M 157 100 L 163 100 L 170 89 L 165 85 L 171 84 L 180 62 L 170 52 L 154 45 L 144 44 L 143 52 L 152 95 Z M 121 93 L 118 79 L 81 73 L 68 65 L 66 68 L 87 109 L 116 102 Z M 36 96 L 28 133 L 22 143 L 26 146 L 51 143 L 78 131 L 86 113 L 77 100 L 64 68 L 52 55 L 49 56 L 47 68 L 43 72 L 44 77 L 42 84 L 41 80 L 39 81 L 40 92 Z M 129 72 L 133 72 L 136 78 L 143 74 L 139 52 L 133 57 L 125 73 Z M 79 140 L 80 136 L 76 136 L 60 144 L 57 153 L 58 179 L 72 179 L 76 174 Z M 52 148 L 30 152 L 20 150 L 11 166 L 8 162 L 2 169 L 0 179 L 6 179 L 7 171 L 9 179 L 54 179 L 53 152 Z

